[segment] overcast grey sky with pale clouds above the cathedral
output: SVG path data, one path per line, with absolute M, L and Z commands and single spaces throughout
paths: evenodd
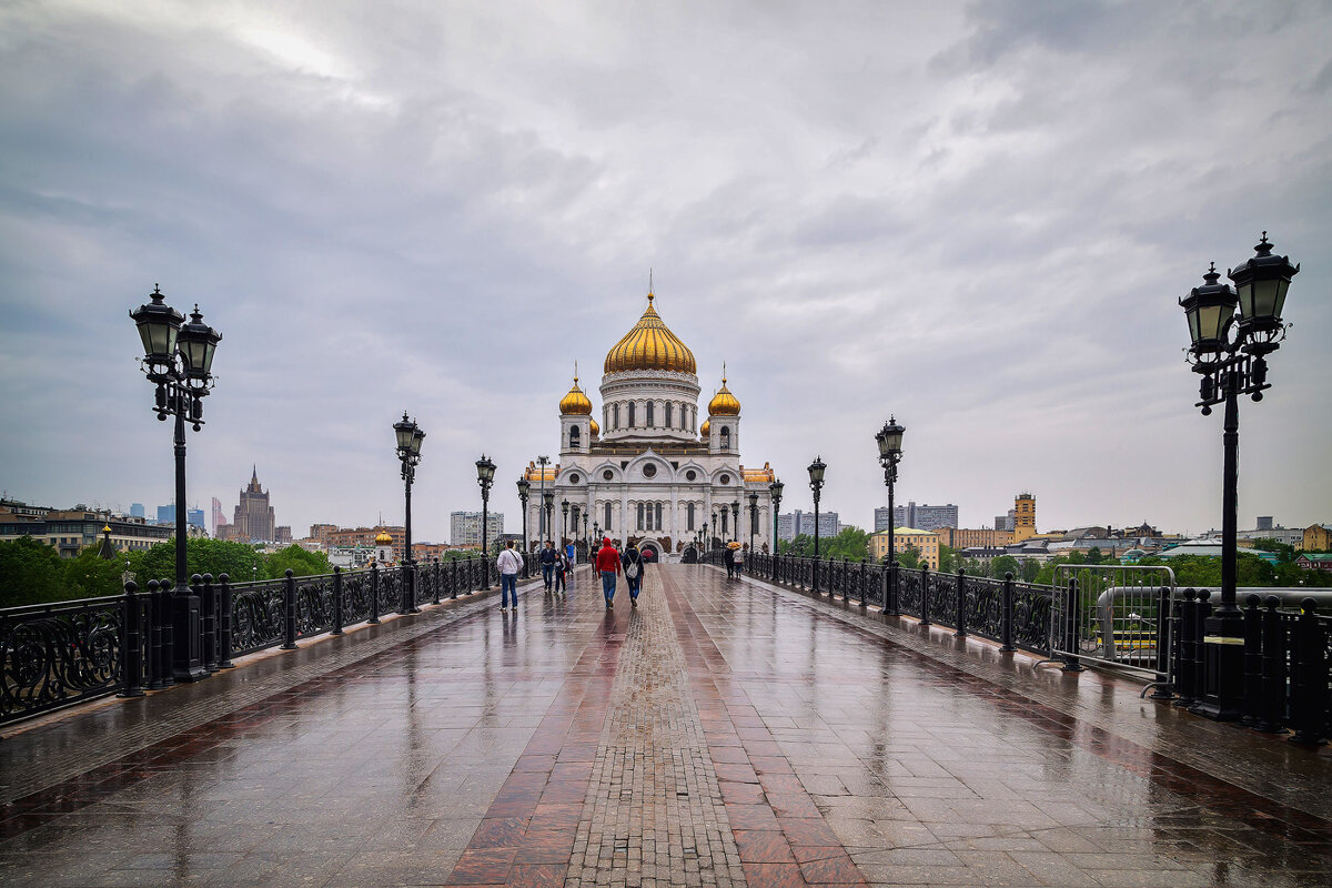
M 657 308 L 742 457 L 870 525 L 1220 526 L 1220 411 L 1177 298 L 1267 229 L 1303 262 L 1240 407 L 1240 527 L 1332 521 L 1332 7 L 200 3 L 0 7 L 0 486 L 173 490 L 127 312 L 221 330 L 189 502 L 418 539 L 558 451 L 582 367 Z M 152 514 L 152 511 L 149 511 Z

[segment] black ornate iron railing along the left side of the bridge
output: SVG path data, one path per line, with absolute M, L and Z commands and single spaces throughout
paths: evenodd
M 414 582 L 406 571 L 414 570 Z M 318 576 L 230 583 L 226 574 L 194 575 L 200 599 L 204 667 L 216 672 L 232 658 L 270 647 L 290 650 L 322 632 L 378 623 L 393 611 L 470 595 L 494 578 L 489 559 L 462 558 L 414 567 L 334 568 Z M 151 580 L 124 595 L 0 610 L 0 724 L 49 712 L 83 700 L 172 684 L 170 644 L 155 608 L 169 616 L 170 582 Z M 414 594 L 408 596 L 406 591 Z M 414 600 L 406 600 L 412 598 Z M 178 640 L 176 640 L 178 643 Z

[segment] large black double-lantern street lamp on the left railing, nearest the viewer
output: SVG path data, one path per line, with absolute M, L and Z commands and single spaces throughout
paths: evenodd
M 176 417 L 176 587 L 170 592 L 159 591 L 153 599 L 149 631 L 159 656 L 152 664 L 148 687 L 155 690 L 208 678 L 198 595 L 190 592 L 185 578 L 185 422 L 194 431 L 204 425 L 204 398 L 214 383 L 213 353 L 222 334 L 204 324 L 198 305 L 185 324 L 184 316 L 166 305 L 157 285 L 149 298 L 129 317 L 144 345 L 144 374 L 156 386 L 153 410 L 163 422 Z

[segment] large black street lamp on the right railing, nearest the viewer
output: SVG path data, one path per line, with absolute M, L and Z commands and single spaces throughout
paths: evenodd
M 1263 240 L 1253 248 L 1256 256 L 1227 272 L 1235 282 L 1231 289 L 1217 284 L 1216 264 L 1203 276 L 1205 284 L 1195 286 L 1179 301 L 1188 321 L 1191 339 L 1188 359 L 1201 377 L 1203 415 L 1212 405 L 1224 403 L 1221 443 L 1221 600 L 1203 623 L 1204 687 L 1203 699 L 1193 708 L 1213 719 L 1240 718 L 1244 691 L 1244 615 L 1235 602 L 1235 539 L 1239 513 L 1239 395 L 1263 399 L 1267 382 L 1267 355 L 1285 338 L 1281 309 L 1291 278 L 1300 266 L 1288 256 L 1272 256 L 1272 244 Z M 1237 308 L 1237 310 L 1236 310 Z

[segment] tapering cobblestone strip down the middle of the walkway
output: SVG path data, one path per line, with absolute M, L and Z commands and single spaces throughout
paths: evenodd
M 565 885 L 745 885 L 659 571 L 647 574 L 642 602 L 630 614 Z

